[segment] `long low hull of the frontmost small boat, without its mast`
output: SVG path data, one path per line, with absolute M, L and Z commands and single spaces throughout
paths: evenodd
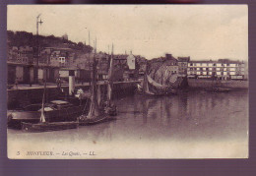
M 22 122 L 22 130 L 24 132 L 49 132 L 78 128 L 78 122 L 44 122 L 44 123 L 26 123 Z

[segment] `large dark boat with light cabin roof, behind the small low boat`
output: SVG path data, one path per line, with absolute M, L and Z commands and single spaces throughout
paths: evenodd
M 43 105 L 46 122 L 72 122 L 88 111 L 87 103 L 65 100 L 53 100 Z M 21 128 L 22 123 L 39 123 L 42 105 L 31 104 L 23 109 L 8 111 L 8 127 Z

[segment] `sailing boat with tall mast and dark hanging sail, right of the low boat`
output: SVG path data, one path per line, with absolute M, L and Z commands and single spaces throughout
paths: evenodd
M 96 54 L 96 49 L 95 49 Z M 91 104 L 88 115 L 81 115 L 79 117 L 79 125 L 94 125 L 101 122 L 115 120 L 115 118 L 109 117 L 108 114 L 100 108 L 98 102 L 100 99 L 100 86 L 96 86 L 96 58 L 94 54 L 93 59 L 93 71 L 92 71 L 92 84 L 91 84 Z

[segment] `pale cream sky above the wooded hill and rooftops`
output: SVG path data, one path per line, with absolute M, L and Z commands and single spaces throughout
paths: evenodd
M 8 30 L 96 40 L 97 51 L 147 59 L 171 53 L 191 60 L 248 60 L 246 5 L 9 5 Z

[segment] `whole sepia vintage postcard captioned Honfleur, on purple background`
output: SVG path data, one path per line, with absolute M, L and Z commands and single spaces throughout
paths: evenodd
M 9 158 L 248 158 L 246 5 L 7 10 Z

